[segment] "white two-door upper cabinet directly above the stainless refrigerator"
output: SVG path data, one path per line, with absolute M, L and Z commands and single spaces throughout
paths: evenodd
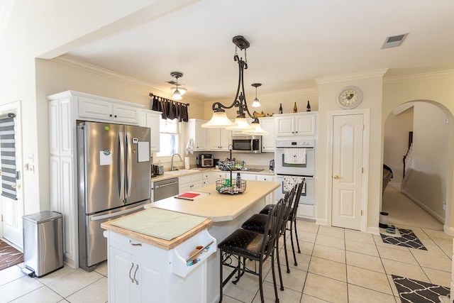
M 143 106 L 139 104 L 112 101 L 96 96 L 76 95 L 75 99 L 77 99 L 79 118 L 131 125 L 140 122 L 140 107 Z

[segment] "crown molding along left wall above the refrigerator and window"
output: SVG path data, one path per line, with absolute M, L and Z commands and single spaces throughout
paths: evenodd
M 54 62 L 57 62 L 57 63 L 61 63 L 61 64 L 64 64 L 64 65 L 68 65 L 70 67 L 74 67 L 74 68 L 77 68 L 79 70 L 84 70 L 86 72 L 92 72 L 92 73 L 94 73 L 96 75 L 100 75 L 102 77 L 107 77 L 107 78 L 110 78 L 110 79 L 116 79 L 116 80 L 118 80 L 120 82 L 126 82 L 128 84 L 133 84 L 136 87 L 140 87 L 142 89 L 147 89 L 150 92 L 152 92 L 153 94 L 162 95 L 163 97 L 170 93 L 170 92 L 167 92 L 167 91 L 165 91 L 163 89 L 160 89 L 158 87 L 153 87 L 152 85 L 150 85 L 150 84 L 148 84 L 146 82 L 140 81 L 139 79 L 135 79 L 133 77 L 129 77 L 129 76 L 120 74 L 118 72 L 113 72 L 113 71 L 107 70 L 107 69 L 105 69 L 103 67 L 92 65 L 92 64 L 89 64 L 87 62 L 83 62 L 83 61 L 80 61 L 80 60 L 77 60 L 77 59 L 74 59 L 72 57 L 68 57 L 68 56 L 65 56 L 65 55 L 62 55 L 60 57 L 55 57 L 55 58 L 51 59 L 51 61 L 54 61 Z M 192 99 L 190 97 L 190 94 L 188 96 L 187 93 L 184 95 L 184 99 L 185 99 L 184 103 L 188 103 L 188 101 L 189 101 L 189 103 L 204 104 L 204 102 Z

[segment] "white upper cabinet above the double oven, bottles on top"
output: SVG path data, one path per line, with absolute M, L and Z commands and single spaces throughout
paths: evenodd
M 276 137 L 316 135 L 314 112 L 275 115 Z

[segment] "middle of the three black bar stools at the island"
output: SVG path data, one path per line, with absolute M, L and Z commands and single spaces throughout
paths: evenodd
M 289 220 L 289 216 L 292 211 L 292 202 L 294 200 L 294 195 L 297 190 L 297 184 L 290 190 L 290 192 L 287 192 L 284 196 L 284 204 L 285 204 L 285 211 L 284 211 L 284 217 L 282 218 L 282 226 L 279 228 L 279 235 L 277 236 L 277 241 L 279 241 L 280 236 L 284 236 L 284 254 L 285 254 L 285 264 L 287 265 L 287 273 L 290 272 L 289 268 L 289 257 L 287 255 L 287 241 L 285 238 L 285 230 L 287 229 L 287 221 Z M 246 220 L 243 225 L 241 226 L 244 229 L 248 229 L 249 231 L 258 231 L 259 233 L 264 232 L 265 228 L 265 223 L 266 223 L 266 218 L 267 214 L 269 214 L 270 210 L 272 210 L 272 205 L 273 207 L 275 204 L 268 204 L 265 206 L 262 211 L 260 211 L 260 214 L 254 214 L 251 216 L 248 220 Z M 265 213 L 266 211 L 266 213 Z M 277 246 L 278 242 L 276 243 L 276 249 L 278 250 Z M 278 265 L 278 270 L 279 270 L 279 281 L 281 283 L 281 290 L 284 290 L 284 285 L 282 285 L 282 272 L 280 268 L 280 260 L 279 260 L 279 250 L 277 251 L 277 265 Z

